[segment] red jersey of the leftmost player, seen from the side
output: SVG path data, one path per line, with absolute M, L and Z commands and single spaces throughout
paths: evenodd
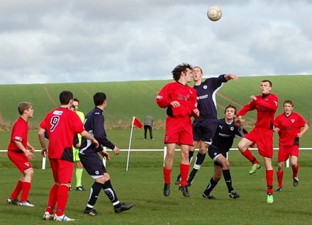
M 19 149 L 15 144 L 14 140 L 21 142 L 27 149 L 28 129 L 28 122 L 26 122 L 22 117 L 19 117 L 13 124 L 8 150 L 21 151 L 21 149 Z

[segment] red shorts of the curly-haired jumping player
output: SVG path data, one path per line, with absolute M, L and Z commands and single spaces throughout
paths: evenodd
M 193 145 L 191 117 L 167 117 L 165 144 L 176 143 Z

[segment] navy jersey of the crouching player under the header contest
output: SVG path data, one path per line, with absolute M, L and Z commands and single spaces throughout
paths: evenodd
M 243 137 L 247 134 L 247 130 L 243 128 L 242 131 L 235 126 L 235 122 L 228 124 L 225 119 L 218 120 L 218 127 L 216 129 L 215 136 L 213 137 L 212 144 L 208 147 L 210 149 L 216 149 L 221 152 L 228 152 L 233 145 L 235 137 Z

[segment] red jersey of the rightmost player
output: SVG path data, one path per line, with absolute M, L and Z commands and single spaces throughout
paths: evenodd
M 306 120 L 298 114 L 292 112 L 288 117 L 285 113 L 279 114 L 274 120 L 274 126 L 279 128 L 279 144 L 283 146 L 299 145 L 297 134 L 301 132 Z

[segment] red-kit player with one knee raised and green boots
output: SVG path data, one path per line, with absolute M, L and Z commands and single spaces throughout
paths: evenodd
M 260 168 L 260 163 L 251 151 L 247 149 L 248 146 L 255 146 L 257 144 L 260 156 L 263 156 L 264 166 L 266 169 L 267 179 L 267 203 L 273 203 L 273 121 L 274 115 L 277 111 L 279 99 L 274 94 L 270 93 L 272 90 L 272 82 L 264 80 L 261 83 L 260 96 L 250 96 L 252 99 L 250 103 L 244 105 L 238 112 L 238 121 L 243 122 L 242 116 L 252 110 L 257 110 L 257 121 L 255 128 L 251 132 L 245 134 L 245 137 L 238 143 L 240 152 L 252 162 L 250 174 L 255 173 Z

